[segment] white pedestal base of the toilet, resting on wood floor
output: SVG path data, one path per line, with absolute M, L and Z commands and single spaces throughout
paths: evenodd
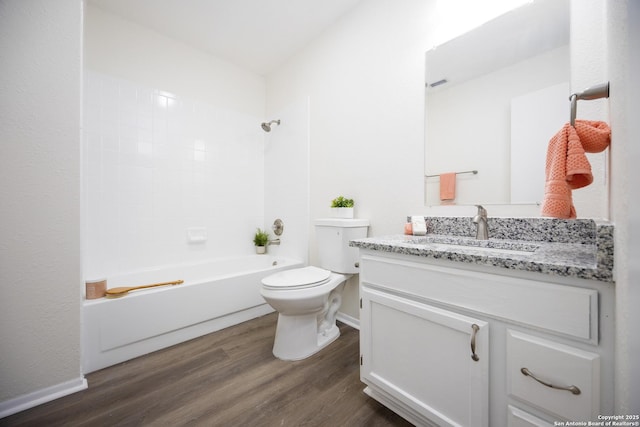
M 335 323 L 318 332 L 316 313 L 289 316 L 278 315 L 278 326 L 273 343 L 273 355 L 282 360 L 301 360 L 319 352 L 340 336 Z

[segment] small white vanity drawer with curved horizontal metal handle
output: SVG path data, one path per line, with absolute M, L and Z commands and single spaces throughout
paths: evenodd
M 600 356 L 508 330 L 507 393 L 566 420 L 596 419 Z

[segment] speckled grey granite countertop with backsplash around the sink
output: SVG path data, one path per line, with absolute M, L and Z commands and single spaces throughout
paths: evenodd
M 351 246 L 455 262 L 613 281 L 613 226 L 593 220 L 489 218 L 475 240 L 470 217 L 425 217 L 426 236 L 356 239 Z

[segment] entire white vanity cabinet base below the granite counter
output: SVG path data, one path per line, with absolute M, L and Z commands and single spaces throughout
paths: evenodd
M 360 297 L 365 392 L 416 425 L 613 411 L 611 283 L 361 250 Z

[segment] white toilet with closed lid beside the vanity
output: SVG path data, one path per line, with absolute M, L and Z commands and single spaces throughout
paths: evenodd
M 342 289 L 358 273 L 358 250 L 349 241 L 367 237 L 369 221 L 329 218 L 315 221 L 320 267 L 281 271 L 262 279 L 262 297 L 278 313 L 273 355 L 300 360 L 340 336 L 336 313 Z

